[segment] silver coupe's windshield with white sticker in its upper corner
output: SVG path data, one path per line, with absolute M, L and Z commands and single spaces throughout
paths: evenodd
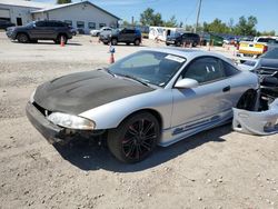
M 186 62 L 185 58 L 158 51 L 139 51 L 110 66 L 118 76 L 165 87 Z

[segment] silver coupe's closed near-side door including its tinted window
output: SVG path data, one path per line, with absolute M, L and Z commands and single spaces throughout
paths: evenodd
M 199 82 L 192 89 L 175 89 L 172 127 L 190 125 L 191 128 L 208 121 L 220 120 L 231 113 L 230 83 L 222 64 L 215 57 L 198 58 L 181 72 L 179 79 Z

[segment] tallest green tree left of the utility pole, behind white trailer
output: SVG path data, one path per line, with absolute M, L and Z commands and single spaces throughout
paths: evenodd
M 140 14 L 140 22 L 143 26 L 161 26 L 163 23 L 161 13 L 155 13 L 151 8 L 146 9 Z

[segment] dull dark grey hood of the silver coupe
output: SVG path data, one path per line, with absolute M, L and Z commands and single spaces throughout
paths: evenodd
M 37 104 L 49 111 L 79 115 L 83 111 L 155 89 L 137 81 L 113 77 L 103 70 L 63 76 L 39 86 Z

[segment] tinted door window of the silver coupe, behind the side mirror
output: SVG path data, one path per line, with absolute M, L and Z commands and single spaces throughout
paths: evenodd
M 210 82 L 225 78 L 221 63 L 216 58 L 199 58 L 190 63 L 182 72 L 183 78 L 197 80 L 199 83 Z

